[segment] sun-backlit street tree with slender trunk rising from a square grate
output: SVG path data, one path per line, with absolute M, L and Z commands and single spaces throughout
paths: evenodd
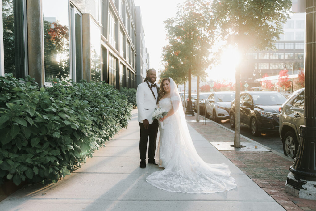
M 213 13 L 222 39 L 235 47 L 245 60 L 248 50 L 275 49 L 275 42 L 289 18 L 291 0 L 214 0 Z M 236 68 L 240 84 L 241 63 Z M 240 107 L 240 87 L 236 86 L 236 108 Z M 235 111 L 234 147 L 240 147 L 240 109 Z

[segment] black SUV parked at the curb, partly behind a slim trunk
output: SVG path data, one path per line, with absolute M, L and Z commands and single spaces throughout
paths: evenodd
M 249 127 L 254 136 L 279 131 L 279 107 L 286 100 L 275 91 L 240 93 L 240 124 Z M 229 121 L 235 127 L 235 101 L 229 109 Z

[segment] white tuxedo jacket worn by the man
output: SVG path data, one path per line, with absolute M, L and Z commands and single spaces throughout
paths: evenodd
M 158 84 L 156 84 L 156 89 L 158 92 Z M 151 88 L 148 86 L 147 82 L 138 85 L 136 92 L 136 103 L 138 110 L 138 122 L 143 123 L 143 120 L 147 119 L 149 124 L 153 123 L 152 115 L 155 108 L 158 108 L 157 99 L 153 95 Z

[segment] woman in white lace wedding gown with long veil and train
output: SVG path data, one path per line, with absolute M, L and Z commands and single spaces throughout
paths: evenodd
M 216 193 L 236 187 L 226 164 L 207 164 L 197 154 L 186 125 L 178 88 L 172 78 L 161 81 L 159 107 L 168 111 L 160 119 L 156 163 L 165 168 L 146 178 L 153 186 L 172 192 Z M 158 161 L 158 162 L 157 162 Z

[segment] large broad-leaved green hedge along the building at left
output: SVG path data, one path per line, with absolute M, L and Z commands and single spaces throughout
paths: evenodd
M 0 77 L 0 184 L 57 182 L 109 140 L 131 117 L 125 95 L 105 83 Z

